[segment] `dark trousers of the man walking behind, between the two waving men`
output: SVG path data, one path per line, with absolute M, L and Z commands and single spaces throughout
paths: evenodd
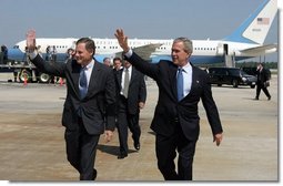
M 128 127 L 132 133 L 132 138 L 134 143 L 140 143 L 141 127 L 139 125 L 139 113 L 129 114 L 127 100 L 121 99 L 117 128 L 119 133 L 120 153 L 128 154 Z

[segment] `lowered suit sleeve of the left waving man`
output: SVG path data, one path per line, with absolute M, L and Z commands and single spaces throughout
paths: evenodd
M 105 116 L 107 116 L 107 125 L 105 130 L 114 131 L 115 128 L 115 102 L 117 102 L 117 90 L 115 90 L 115 81 L 114 73 L 109 71 L 107 75 L 107 85 L 105 85 Z

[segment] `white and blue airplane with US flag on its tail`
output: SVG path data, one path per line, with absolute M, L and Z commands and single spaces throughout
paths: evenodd
M 264 44 L 271 24 L 277 12 L 277 0 L 264 0 L 263 3 L 231 34 L 222 40 L 192 40 L 193 53 L 190 58 L 193 64 L 211 64 L 225 62 L 233 65 L 235 61 L 265 55 L 277 51 L 277 44 Z M 92 38 L 97 50 L 94 58 L 102 62 L 103 58 L 121 56 L 121 48 L 117 39 Z M 55 39 L 39 38 L 37 45 L 47 49 L 55 45 L 57 60 L 65 61 L 68 49 L 74 49 L 75 38 Z M 156 63 L 161 59 L 171 60 L 171 40 L 129 39 L 129 45 L 143 59 Z M 13 61 L 26 60 L 26 40 L 18 42 L 8 50 L 8 58 Z M 41 51 L 43 58 L 46 51 Z

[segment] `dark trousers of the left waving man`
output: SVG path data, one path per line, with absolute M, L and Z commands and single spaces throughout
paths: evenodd
M 65 130 L 67 158 L 80 173 L 81 180 L 95 179 L 94 161 L 100 135 L 90 135 L 79 118 L 79 130 Z

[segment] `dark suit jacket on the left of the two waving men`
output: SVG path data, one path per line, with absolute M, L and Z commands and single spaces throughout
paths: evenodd
M 78 130 L 79 108 L 82 111 L 81 117 L 89 134 L 102 134 L 105 128 L 114 130 L 115 83 L 110 68 L 94 60 L 88 93 L 83 100 L 80 100 L 79 76 L 81 65 L 75 60 L 70 60 L 67 63 L 50 63 L 37 55 L 32 63 L 41 72 L 65 78 L 68 89 L 62 125 L 67 130 Z M 108 116 L 107 126 L 103 123 L 105 113 Z

